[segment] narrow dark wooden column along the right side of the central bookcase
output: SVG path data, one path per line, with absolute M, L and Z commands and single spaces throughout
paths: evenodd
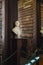
M 36 0 L 37 3 L 36 3 L 36 8 L 37 8 L 37 53 L 36 53 L 36 56 L 39 56 L 39 49 L 40 49 L 40 46 L 41 46 L 41 42 L 40 42 L 40 29 L 41 29 L 41 10 L 40 10 L 40 0 Z M 39 62 L 40 60 L 38 60 L 36 62 L 36 65 L 39 65 Z

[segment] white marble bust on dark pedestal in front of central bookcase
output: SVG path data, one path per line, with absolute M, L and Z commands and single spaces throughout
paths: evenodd
M 20 28 L 19 21 L 15 22 L 15 27 L 12 29 L 12 31 L 17 35 L 17 38 L 21 38 L 22 30 Z

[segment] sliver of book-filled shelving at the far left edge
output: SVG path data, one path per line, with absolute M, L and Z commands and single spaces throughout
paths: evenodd
M 2 62 L 2 0 L 0 0 L 0 63 Z

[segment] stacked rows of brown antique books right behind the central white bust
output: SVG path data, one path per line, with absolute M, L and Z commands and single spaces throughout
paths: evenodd
M 33 0 L 34 1 L 34 0 Z M 25 1 L 24 1 L 25 2 Z M 18 5 L 18 20 L 20 21 L 22 28 L 22 36 L 32 38 L 36 28 L 36 2 L 33 5 L 32 0 L 28 2 L 22 2 L 21 6 Z M 18 4 L 20 1 L 18 2 Z

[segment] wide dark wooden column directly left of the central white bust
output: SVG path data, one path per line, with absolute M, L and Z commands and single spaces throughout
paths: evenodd
M 17 50 L 17 40 L 15 39 L 15 34 L 12 32 L 17 18 L 17 0 L 5 0 L 5 44 L 3 60 L 7 59 Z M 5 61 L 4 65 L 17 65 L 17 53 Z

